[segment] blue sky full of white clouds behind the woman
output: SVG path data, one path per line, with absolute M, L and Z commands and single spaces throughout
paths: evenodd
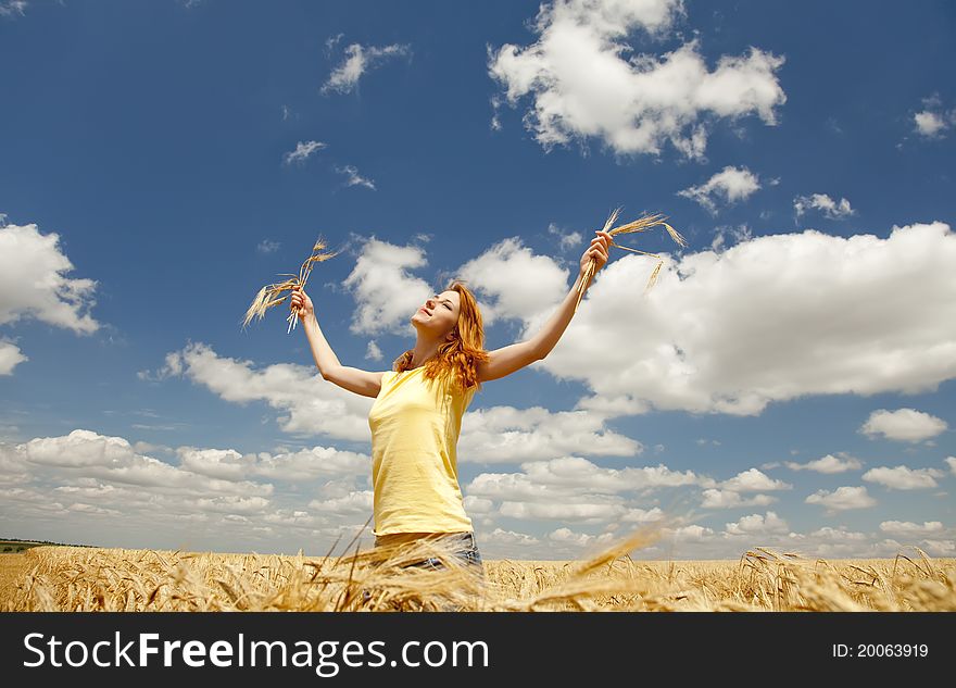
M 370 515 L 372 400 L 450 277 L 562 341 L 489 383 L 488 556 L 956 552 L 956 10 L 945 2 L 0 2 L 0 530 L 323 553 Z M 536 17 L 538 17 L 536 20 Z M 295 154 L 295 151 L 299 151 Z M 629 240 L 628 240 L 629 239 Z M 370 536 L 365 538 L 370 542 Z

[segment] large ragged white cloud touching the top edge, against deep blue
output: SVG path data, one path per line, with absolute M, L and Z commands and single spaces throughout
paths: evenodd
M 757 114 L 775 124 L 787 97 L 776 77 L 783 64 L 757 48 L 722 55 L 708 68 L 696 40 L 662 55 L 636 54 L 636 29 L 669 33 L 679 0 L 556 0 L 541 4 L 534 43 L 489 46 L 489 74 L 516 105 L 533 101 L 525 125 L 545 148 L 596 138 L 621 154 L 657 154 L 669 141 L 701 158 L 709 121 Z

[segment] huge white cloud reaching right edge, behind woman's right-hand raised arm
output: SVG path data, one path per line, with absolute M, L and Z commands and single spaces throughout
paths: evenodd
M 533 367 L 589 386 L 596 399 L 579 405 L 617 399 L 633 413 L 756 415 L 808 395 L 929 391 L 956 377 L 954 264 L 956 235 L 943 223 L 894 227 L 885 239 L 806 230 L 665 254 L 644 296 L 636 291 L 653 264 L 622 255 Z M 552 302 L 566 289 L 554 287 Z

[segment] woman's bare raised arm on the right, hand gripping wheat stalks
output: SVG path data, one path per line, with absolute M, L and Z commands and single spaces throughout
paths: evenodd
M 590 263 L 592 258 L 594 259 L 596 262 L 595 274 L 607 263 L 607 249 L 612 241 L 611 235 L 600 229 L 595 230 L 595 234 L 598 236 L 591 239 L 591 246 L 581 255 L 581 268 L 578 272 L 578 279 L 564 298 L 562 304 L 557 307 L 557 311 L 544 323 L 541 330 L 528 341 L 489 351 L 488 362 L 478 365 L 478 379 L 480 381 L 483 383 L 511 375 L 515 371 L 519 371 L 534 361 L 540 361 L 551 353 L 551 350 L 557 345 L 564 330 L 567 329 L 568 323 L 571 322 L 571 317 L 575 315 L 578 290 L 581 280 L 584 278 L 588 263 Z M 587 290 L 589 287 L 590 283 L 584 289 Z

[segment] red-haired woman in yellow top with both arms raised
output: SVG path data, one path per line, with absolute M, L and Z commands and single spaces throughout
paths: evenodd
M 527 341 L 494 351 L 483 349 L 478 303 L 460 282 L 427 299 L 412 315 L 417 332 L 415 347 L 385 372 L 339 363 L 318 326 L 312 299 L 301 288 L 292 292 L 290 308 L 299 310 L 323 378 L 375 398 L 368 425 L 376 547 L 442 540 L 451 545 L 455 556 L 483 570 L 458 486 L 456 446 L 462 416 L 481 383 L 540 361 L 561 339 L 574 316 L 588 263 L 593 258 L 601 270 L 607 262 L 611 235 L 602 230 L 595 234 L 581 255 L 575 286 L 541 332 Z M 422 564 L 440 562 L 428 560 Z

